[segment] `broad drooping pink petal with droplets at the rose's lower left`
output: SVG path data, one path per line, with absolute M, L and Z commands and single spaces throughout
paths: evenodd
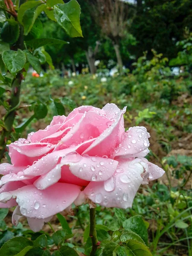
M 10 192 L 16 198 L 22 215 L 30 218 L 48 218 L 69 207 L 81 192 L 81 187 L 67 183 L 55 183 L 45 190 L 34 185 Z

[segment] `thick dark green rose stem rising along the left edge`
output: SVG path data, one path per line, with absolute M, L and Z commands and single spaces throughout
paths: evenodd
M 22 4 L 24 1 L 20 0 L 20 4 Z M 17 19 L 17 17 L 15 17 Z M 24 49 L 24 41 L 23 41 L 23 26 L 20 26 L 20 36 L 18 38 L 17 44 L 14 47 L 14 50 L 17 51 L 17 49 Z M 6 144 L 7 140 L 9 140 L 10 135 L 13 130 L 13 123 L 15 120 L 15 115 L 17 111 L 17 107 L 20 105 L 20 87 L 21 87 L 21 81 L 23 79 L 22 71 L 17 74 L 17 76 L 12 81 L 12 91 L 11 96 L 9 99 L 9 109 L 6 113 L 6 116 L 4 117 L 4 127 L 3 131 L 1 132 L 1 138 L 0 138 L 0 160 L 3 158 L 3 154 L 6 151 Z

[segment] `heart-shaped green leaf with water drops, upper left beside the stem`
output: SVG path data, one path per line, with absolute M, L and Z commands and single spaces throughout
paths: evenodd
M 8 50 L 2 53 L 2 59 L 7 69 L 13 76 L 22 70 L 26 62 L 26 55 L 20 49 L 16 51 Z

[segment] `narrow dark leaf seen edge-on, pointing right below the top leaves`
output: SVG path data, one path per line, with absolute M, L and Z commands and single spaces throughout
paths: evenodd
M 36 38 L 33 40 L 26 41 L 26 44 L 33 49 L 37 49 L 44 45 L 63 45 L 69 43 L 55 38 Z

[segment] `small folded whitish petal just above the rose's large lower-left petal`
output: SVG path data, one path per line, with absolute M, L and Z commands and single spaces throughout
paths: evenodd
M 61 179 L 61 164 L 58 164 L 50 172 L 39 177 L 33 183 L 38 189 L 47 189 Z

